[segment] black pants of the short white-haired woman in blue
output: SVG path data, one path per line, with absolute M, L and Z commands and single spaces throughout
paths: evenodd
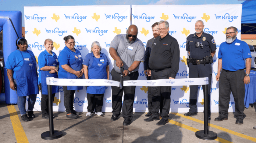
M 87 93 L 88 106 L 87 111 L 102 112 L 104 94 L 90 94 Z

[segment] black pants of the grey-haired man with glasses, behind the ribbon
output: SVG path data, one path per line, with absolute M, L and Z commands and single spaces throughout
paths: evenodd
M 169 79 L 170 68 L 164 69 L 162 71 L 151 71 L 151 80 L 155 79 Z M 171 105 L 171 86 L 158 86 L 151 87 L 152 93 L 152 115 L 154 117 L 159 117 L 159 109 L 161 112 L 161 117 L 164 120 L 168 120 L 170 105 Z M 162 110 L 160 107 L 163 107 Z

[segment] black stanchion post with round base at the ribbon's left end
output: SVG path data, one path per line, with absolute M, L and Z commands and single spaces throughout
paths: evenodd
M 62 136 L 61 131 L 54 131 L 53 128 L 53 99 L 52 99 L 52 93 L 51 93 L 51 85 L 47 85 L 48 87 L 48 108 L 49 108 L 49 126 L 50 131 L 43 132 L 41 134 L 41 138 L 45 140 L 52 140 L 52 139 L 58 139 Z

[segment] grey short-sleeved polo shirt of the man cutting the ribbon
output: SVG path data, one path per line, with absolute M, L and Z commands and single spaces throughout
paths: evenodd
M 138 38 L 130 44 L 126 38 L 126 34 L 119 34 L 111 41 L 110 47 L 117 51 L 117 55 L 124 63 L 124 69 L 128 69 L 134 61 L 144 60 L 145 46 Z M 115 62 L 116 61 L 114 60 L 114 69 L 116 72 L 120 73 L 120 69 Z M 131 72 L 136 72 L 138 70 L 139 66 Z

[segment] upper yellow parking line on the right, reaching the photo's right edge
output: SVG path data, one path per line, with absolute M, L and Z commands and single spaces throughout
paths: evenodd
M 204 124 L 204 121 L 198 120 L 198 119 L 196 119 L 196 118 L 187 117 L 187 116 L 184 116 L 184 115 L 179 114 L 179 113 L 171 113 L 171 114 L 174 114 L 174 115 L 177 115 L 177 116 L 181 116 L 181 117 L 183 117 L 183 118 L 187 118 L 187 119 L 189 119 L 189 120 L 192 120 L 192 121 L 195 121 L 195 122 Z M 231 130 L 229 130 L 229 129 L 222 128 L 222 127 L 220 127 L 220 126 L 213 125 L 213 124 L 210 124 L 210 123 L 209 123 L 209 126 L 210 126 L 210 127 L 213 127 L 213 128 L 216 128 L 216 129 L 219 129 L 219 130 L 224 131 L 224 132 L 231 133 L 231 134 L 236 135 L 236 136 L 239 136 L 239 137 L 241 137 L 241 138 L 248 139 L 248 140 L 251 140 L 251 141 L 253 141 L 253 142 L 256 142 L 256 138 L 252 138 L 252 137 L 250 137 L 250 136 L 246 136 L 246 135 L 243 135 L 243 134 L 241 134 L 241 133 L 234 132 L 234 131 L 231 131 Z

